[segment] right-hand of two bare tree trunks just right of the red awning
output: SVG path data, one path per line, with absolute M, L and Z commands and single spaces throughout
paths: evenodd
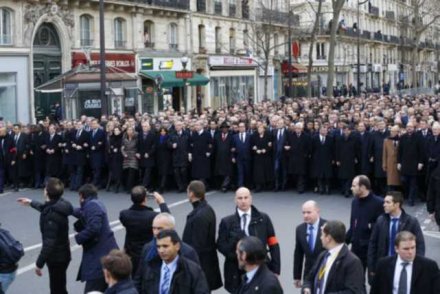
M 333 95 L 333 83 L 335 80 L 335 47 L 336 33 L 339 28 L 339 15 L 344 7 L 345 0 L 332 0 L 333 17 L 330 27 L 330 51 L 328 54 L 328 79 L 327 79 L 327 96 Z

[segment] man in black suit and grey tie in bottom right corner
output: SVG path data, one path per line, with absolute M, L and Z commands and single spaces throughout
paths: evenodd
M 394 244 L 397 255 L 378 262 L 370 294 L 438 294 L 438 265 L 416 255 L 416 236 L 402 231 L 397 234 Z

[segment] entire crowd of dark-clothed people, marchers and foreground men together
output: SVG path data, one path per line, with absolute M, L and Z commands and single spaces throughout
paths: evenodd
M 354 196 L 348 230 L 322 219 L 315 201 L 304 203 L 293 272 L 304 293 L 365 293 L 365 273 L 371 293 L 390 293 L 384 290 L 390 287 L 399 294 L 438 293 L 437 264 L 423 257 L 420 225 L 403 204 L 427 201 L 440 225 L 439 107 L 438 96 L 371 95 L 6 122 L 0 125 L 0 193 L 44 187 L 46 203 L 19 201 L 41 212 L 36 273 L 47 264 L 51 293 L 67 293 L 68 215 L 78 218 L 85 293 L 119 293 L 119 287 L 130 294 L 209 293 L 223 285 L 230 293 L 282 293 L 275 228 L 252 205 L 252 193 L 290 189 Z M 62 199 L 64 186 L 78 191 L 80 208 Z M 120 214 L 125 253 L 117 251 L 99 189 L 130 194 L 133 206 Z M 160 195 L 171 189 L 186 192 L 193 205 L 182 238 Z M 217 240 L 207 189 L 235 192 L 236 210 L 221 219 Z M 146 206 L 153 190 L 160 214 Z M 60 254 L 48 254 L 44 244 Z M 224 279 L 217 251 L 225 256 Z M 421 288 L 410 283 L 416 273 Z

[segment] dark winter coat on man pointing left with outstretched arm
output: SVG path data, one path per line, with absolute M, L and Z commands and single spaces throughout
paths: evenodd
M 68 263 L 70 261 L 69 215 L 73 213 L 70 202 L 59 199 L 46 203 L 32 201 L 31 207 L 40 214 L 42 248 L 36 265 L 43 268 L 47 263 Z

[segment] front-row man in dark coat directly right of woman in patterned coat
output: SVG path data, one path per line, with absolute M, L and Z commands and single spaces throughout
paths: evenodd
M 142 123 L 142 133 L 139 135 L 137 143 L 136 157 L 139 159 L 139 166 L 142 169 L 142 185 L 145 188 L 151 188 L 151 172 L 155 165 L 156 136 L 151 131 L 148 122 Z

